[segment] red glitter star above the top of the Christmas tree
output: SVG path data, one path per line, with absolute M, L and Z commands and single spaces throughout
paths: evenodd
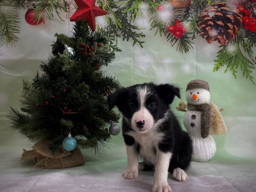
M 75 0 L 78 9 L 70 18 L 70 21 L 87 20 L 90 28 L 95 31 L 95 17 L 106 15 L 108 12 L 95 6 L 94 0 Z

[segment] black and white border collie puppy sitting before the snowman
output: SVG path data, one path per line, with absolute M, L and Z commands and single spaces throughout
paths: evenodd
M 154 169 L 153 192 L 171 192 L 168 171 L 179 181 L 187 179 L 184 169 L 190 165 L 192 141 L 181 130 L 169 108 L 180 89 L 171 84 L 136 84 L 108 96 L 111 110 L 115 105 L 123 114 L 122 134 L 128 165 L 122 176 L 138 177 L 139 170 Z M 140 156 L 144 162 L 139 163 Z

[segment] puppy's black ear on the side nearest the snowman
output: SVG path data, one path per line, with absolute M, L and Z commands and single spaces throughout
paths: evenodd
M 174 97 L 180 98 L 180 88 L 171 84 L 160 84 L 156 87 L 157 94 L 167 104 L 171 104 Z

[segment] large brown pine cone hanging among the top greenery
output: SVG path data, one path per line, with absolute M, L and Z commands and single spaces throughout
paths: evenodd
M 242 26 L 242 15 L 233 5 L 225 2 L 212 3 L 200 15 L 202 22 L 198 25 L 201 36 L 206 36 L 207 43 L 218 40 L 221 45 L 227 45 L 229 40 L 236 37 Z

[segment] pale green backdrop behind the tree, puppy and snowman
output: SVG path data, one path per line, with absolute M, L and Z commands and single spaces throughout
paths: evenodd
M 20 15 L 24 14 L 25 10 L 20 11 Z M 145 27 L 144 48 L 132 46 L 129 41 L 119 40 L 118 45 L 122 52 L 117 52 L 115 61 L 103 70 L 111 76 L 116 76 L 122 86 L 150 81 L 177 84 L 182 88 L 183 102 L 186 102 L 186 84 L 190 80 L 208 81 L 211 101 L 219 108 L 224 108 L 221 113 L 227 126 L 227 134 L 214 137 L 217 153 L 209 163 L 219 174 L 239 175 L 239 167 L 242 167 L 241 174 L 255 176 L 256 85 L 245 79 L 239 69 L 237 79 L 234 79 L 230 71 L 225 74 L 224 68 L 212 72 L 213 60 L 219 50 L 217 43 L 209 45 L 197 36 L 194 49 L 181 54 L 176 52 L 176 47 L 171 47 L 165 38 L 158 35 L 155 37 L 154 32 L 148 30 L 145 20 L 138 18 L 136 22 Z M 72 23 L 55 18 L 47 20 L 44 25 L 29 26 L 21 18 L 20 26 L 20 41 L 16 43 L 16 47 L 7 47 L 4 44 L 0 47 L 0 155 L 2 160 L 10 160 L 13 163 L 12 166 L 7 166 L 8 170 L 4 165 L 1 169 L 5 170 L 2 174 L 8 172 L 14 175 L 23 174 L 24 169 L 18 169 L 19 158 L 22 148 L 30 149 L 32 143 L 20 138 L 17 132 L 11 131 L 5 116 L 6 111 L 10 105 L 19 107 L 22 79 L 31 80 L 34 77 L 41 61 L 47 61 L 51 52 L 50 45 L 55 40 L 54 34 L 58 32 L 71 35 Z M 256 49 L 254 53 L 256 55 Z M 253 74 L 256 77 L 256 70 Z M 183 126 L 184 113 L 175 109 L 178 102 L 180 99 L 176 98 L 172 109 Z M 103 158 L 94 155 L 90 150 L 83 151 L 87 170 L 91 169 L 93 173 L 97 173 L 100 167 L 99 169 L 105 171 L 116 169 L 121 173 L 121 170 L 125 169 L 126 152 L 122 134 L 113 136 L 111 142 L 113 147 L 106 148 L 105 153 L 102 153 Z M 92 166 L 96 164 L 97 166 Z M 237 169 L 233 169 L 234 167 Z M 206 173 L 215 174 L 211 169 L 198 169 L 190 172 L 190 175 Z

